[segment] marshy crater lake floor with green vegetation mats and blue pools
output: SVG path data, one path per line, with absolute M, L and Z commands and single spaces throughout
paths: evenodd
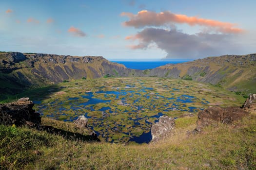
M 34 108 L 43 117 L 63 121 L 84 115 L 100 140 L 148 143 L 160 116 L 178 119 L 210 105 L 237 106 L 243 101 L 222 88 L 187 80 L 102 78 L 61 83 L 34 98 Z

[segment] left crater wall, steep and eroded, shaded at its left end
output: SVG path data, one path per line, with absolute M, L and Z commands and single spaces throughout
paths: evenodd
M 98 56 L 70 56 L 40 53 L 0 52 L 0 93 L 17 94 L 30 86 L 57 84 L 64 80 L 139 76 Z

